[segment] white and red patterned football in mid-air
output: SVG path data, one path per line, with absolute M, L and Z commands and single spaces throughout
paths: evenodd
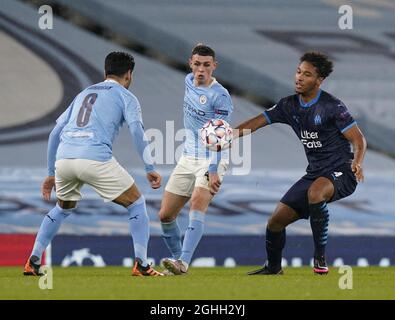
M 212 119 L 200 129 L 200 138 L 206 148 L 221 151 L 230 147 L 233 130 L 225 120 Z

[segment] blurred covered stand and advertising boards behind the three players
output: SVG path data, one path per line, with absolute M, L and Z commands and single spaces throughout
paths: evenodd
M 342 5 L 351 8 L 352 19 L 345 19 Z M 182 143 L 176 133 L 182 129 L 187 60 L 198 42 L 216 50 L 215 76 L 235 105 L 232 126 L 293 94 L 303 52 L 324 51 L 334 60 L 323 89 L 348 106 L 369 149 L 365 182 L 352 196 L 329 205 L 328 262 L 394 265 L 394 15 L 391 0 L 1 0 L 0 265 L 23 265 L 30 253 L 35 233 L 55 203 L 40 195 L 49 132 L 79 91 L 103 79 L 105 56 L 114 50 L 134 55 L 130 90 L 141 102 L 145 129 L 159 129 L 166 150 L 175 150 Z M 251 172 L 225 177 L 192 265 L 265 261 L 267 219 L 304 175 L 307 161 L 299 140 L 284 125 L 258 131 L 251 145 Z M 175 163 L 166 157 L 158 164 L 164 181 L 154 191 L 127 128 L 120 132 L 114 156 L 147 199 L 149 257 L 158 264 L 168 252 L 157 212 Z M 130 266 L 126 211 L 104 204 L 89 188 L 83 194 L 47 250 L 46 262 Z M 179 222 L 185 230 L 188 207 Z M 309 222 L 298 221 L 287 234 L 284 265 L 309 265 Z

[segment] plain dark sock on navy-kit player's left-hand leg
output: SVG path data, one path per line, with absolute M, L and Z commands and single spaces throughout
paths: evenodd
M 273 232 L 266 227 L 266 253 L 268 267 L 275 272 L 281 269 L 281 258 L 284 246 L 285 228 L 280 232 Z

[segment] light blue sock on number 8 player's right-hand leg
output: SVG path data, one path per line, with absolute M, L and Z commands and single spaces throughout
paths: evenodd
M 145 206 L 145 198 L 142 195 L 128 208 L 130 233 L 133 238 L 134 256 L 147 266 L 147 247 L 149 239 L 149 217 Z

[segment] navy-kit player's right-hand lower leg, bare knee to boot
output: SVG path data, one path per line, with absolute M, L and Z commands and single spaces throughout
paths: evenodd
M 325 260 L 328 239 L 329 214 L 327 201 L 334 193 L 333 183 L 325 177 L 316 179 L 308 190 L 310 225 L 314 238 L 314 268 L 316 274 L 329 272 Z

